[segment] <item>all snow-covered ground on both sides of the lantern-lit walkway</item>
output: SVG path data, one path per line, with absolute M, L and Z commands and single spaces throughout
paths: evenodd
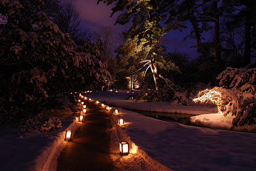
M 88 93 L 86 96 L 120 107 L 127 108 L 131 105 L 133 109 L 140 107 L 143 110 L 161 112 L 175 110 L 184 114 L 188 114 L 188 111 L 189 114 L 211 114 L 217 111 L 216 107 L 212 106 L 182 107 L 163 102 L 145 103 L 124 100 L 127 98 L 127 93 Z M 201 108 L 204 112 L 200 111 Z M 119 109 L 121 113 L 112 117 L 114 127 L 110 145 L 111 158 L 118 170 L 168 170 L 168 168 L 172 170 L 255 170 L 256 168 L 255 133 L 168 123 Z M 64 130 L 67 128 L 76 130 L 79 126 L 68 108 L 59 113 L 63 114 L 58 115 L 61 117 L 63 128 L 50 133 L 34 131 L 19 135 L 13 132 L 12 128 L 0 128 L 1 170 L 54 170 L 58 155 L 67 143 L 63 141 Z M 124 125 L 116 124 L 118 117 L 124 117 Z M 198 121 L 209 122 L 207 115 L 196 117 L 202 117 L 197 121 L 195 119 L 197 123 Z M 220 115 L 215 117 L 218 121 Z M 228 123 L 228 118 L 226 119 Z M 227 123 L 223 125 L 227 126 Z M 131 154 L 128 156 L 118 154 L 118 142 L 121 140 L 130 142 Z

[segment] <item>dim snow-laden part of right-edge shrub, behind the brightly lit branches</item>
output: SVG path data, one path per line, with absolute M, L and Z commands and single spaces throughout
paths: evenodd
M 226 105 L 225 114 L 232 113 L 234 126 L 256 124 L 256 68 L 227 68 L 217 77 L 220 86 L 236 94 Z

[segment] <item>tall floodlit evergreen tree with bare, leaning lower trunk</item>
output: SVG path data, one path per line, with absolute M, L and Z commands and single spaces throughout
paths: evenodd
M 98 3 L 103 0 L 99 0 Z M 150 68 L 155 88 L 159 91 L 159 79 L 165 82 L 165 85 L 173 91 L 173 96 L 177 97 L 180 103 L 186 101 L 184 97 L 177 93 L 172 80 L 166 78 L 159 73 L 159 62 L 164 58 L 162 52 L 164 50 L 160 41 L 164 34 L 184 27 L 182 22 L 176 21 L 170 25 L 161 24 L 166 20 L 168 9 L 170 8 L 170 1 L 104 1 L 104 3 L 112 4 L 116 2 L 115 7 L 112 8 L 112 15 L 118 11 L 123 13 L 118 16 L 115 24 L 127 24 L 130 21 L 132 26 L 125 33 L 127 40 L 122 46 L 116 50 L 118 54 L 129 59 L 136 58 L 138 61 Z M 146 70 L 147 71 L 147 70 Z M 183 99 L 182 99 L 183 98 Z M 182 102 L 181 102 L 182 101 Z

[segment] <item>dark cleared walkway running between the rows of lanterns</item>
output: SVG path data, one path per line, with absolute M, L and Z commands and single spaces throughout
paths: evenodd
M 61 151 L 57 170 L 115 170 L 109 156 L 109 114 L 94 103 L 86 105 L 85 121 Z

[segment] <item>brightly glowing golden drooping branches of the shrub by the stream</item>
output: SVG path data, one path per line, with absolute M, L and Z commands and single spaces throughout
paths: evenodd
M 218 91 L 212 91 L 209 89 L 205 89 L 204 91 L 199 91 L 197 94 L 198 98 L 194 98 L 193 101 L 195 102 L 207 102 L 212 101 L 212 103 L 215 103 L 218 107 L 218 112 L 221 114 L 221 101 L 222 97 L 221 94 Z

